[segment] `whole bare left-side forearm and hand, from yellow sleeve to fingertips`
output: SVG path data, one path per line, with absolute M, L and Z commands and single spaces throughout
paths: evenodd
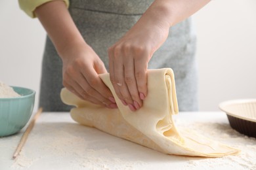
M 98 74 L 106 73 L 104 64 L 84 41 L 63 1 L 49 1 L 35 14 L 63 62 L 63 85 L 81 99 L 117 108 L 114 97 Z

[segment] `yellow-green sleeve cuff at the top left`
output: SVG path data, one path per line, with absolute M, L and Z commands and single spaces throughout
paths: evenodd
M 26 14 L 28 14 L 32 18 L 36 18 L 35 13 L 33 12 L 37 7 L 40 5 L 43 5 L 44 3 L 48 3 L 50 1 L 56 1 L 56 0 L 18 0 L 18 3 L 20 5 L 20 9 L 24 10 Z M 69 0 L 59 0 L 64 1 L 66 3 L 66 6 L 70 5 Z

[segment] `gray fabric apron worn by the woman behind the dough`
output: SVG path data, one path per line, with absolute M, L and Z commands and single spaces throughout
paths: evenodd
M 108 69 L 108 47 L 120 39 L 153 0 L 70 0 L 70 14 L 86 42 Z M 198 110 L 196 37 L 190 18 L 171 27 L 167 41 L 154 53 L 148 69 L 170 67 L 175 73 L 180 111 Z M 62 61 L 47 37 L 41 75 L 39 107 L 44 111 L 69 111 L 60 100 Z

